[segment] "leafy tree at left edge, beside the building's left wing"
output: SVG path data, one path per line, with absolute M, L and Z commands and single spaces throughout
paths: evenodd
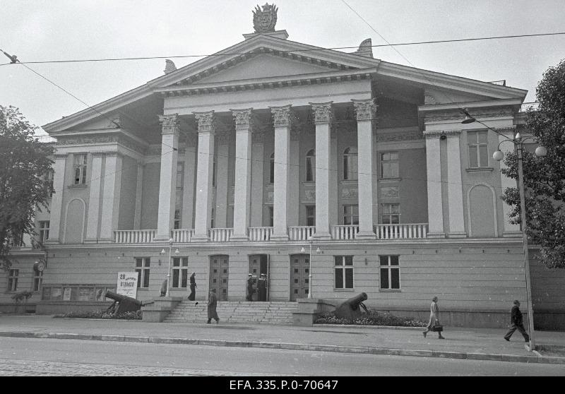
M 53 186 L 52 146 L 34 138 L 32 126 L 16 107 L 0 105 L 0 267 L 11 264 L 10 249 L 22 234 L 35 234 L 35 210 L 47 206 Z

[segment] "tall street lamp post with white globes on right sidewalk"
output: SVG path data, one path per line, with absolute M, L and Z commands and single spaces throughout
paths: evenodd
M 524 253 L 524 270 L 525 270 L 525 285 L 526 285 L 526 301 L 528 302 L 528 330 L 530 331 L 530 352 L 535 350 L 535 338 L 534 338 L 534 311 L 533 311 L 533 303 L 532 303 L 532 282 L 530 278 L 530 256 L 528 252 L 528 235 L 526 234 L 526 221 L 525 221 L 525 193 L 524 193 L 524 172 L 523 172 L 523 143 L 528 139 L 532 139 L 535 141 L 533 137 L 521 138 L 520 133 L 516 133 L 516 138 L 511 139 L 504 134 L 499 133 L 498 131 L 492 129 L 491 127 L 487 126 L 486 124 L 482 123 L 482 121 L 478 121 L 474 117 L 472 117 L 467 110 L 463 109 L 463 114 L 465 114 L 465 119 L 461 121 L 463 124 L 472 123 L 474 121 L 479 122 L 483 126 L 487 127 L 487 129 L 494 131 L 495 133 L 499 134 L 506 138 L 506 140 L 501 141 L 499 143 L 496 152 L 493 153 L 492 158 L 496 161 L 501 161 L 504 158 L 504 153 L 500 150 L 501 143 L 504 142 L 511 142 L 516 147 L 516 153 L 518 154 L 518 191 L 520 193 L 520 218 L 522 223 L 522 241 L 523 241 L 523 253 Z M 547 155 L 547 149 L 542 145 L 538 146 L 535 149 L 535 155 L 537 156 L 545 156 Z

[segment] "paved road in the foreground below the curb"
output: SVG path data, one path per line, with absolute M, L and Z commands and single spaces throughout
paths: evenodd
M 0 338 L 0 376 L 565 376 L 563 365 Z

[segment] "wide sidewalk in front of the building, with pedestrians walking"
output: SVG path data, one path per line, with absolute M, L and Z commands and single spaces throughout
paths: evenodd
M 221 318 L 221 316 L 220 316 Z M 520 333 L 506 342 L 505 329 L 446 328 L 445 340 L 436 333 L 424 339 L 422 328 L 315 325 L 273 326 L 237 323 L 143 323 L 126 320 L 52 318 L 46 315 L 0 315 L 1 337 L 116 340 L 269 347 L 287 350 L 354 352 L 397 356 L 484 359 L 508 362 L 565 364 L 565 357 L 528 352 Z M 565 333 L 536 331 L 536 345 L 565 349 Z

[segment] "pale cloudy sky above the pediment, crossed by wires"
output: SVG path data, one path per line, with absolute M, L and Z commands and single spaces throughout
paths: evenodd
M 276 0 L 277 30 L 318 47 L 565 32 L 564 0 Z M 0 0 L 0 49 L 20 61 L 205 55 L 253 32 L 257 0 Z M 261 5 L 262 2 L 261 2 Z M 347 5 L 355 9 L 367 25 Z M 380 36 L 379 36 L 380 35 Z M 535 101 L 565 35 L 373 49 L 374 57 L 477 80 L 506 80 Z M 353 52 L 354 49 L 342 49 Z M 8 63 L 3 56 L 0 64 Z M 177 68 L 200 57 L 173 59 Z M 163 75 L 164 59 L 28 64 L 88 105 Z M 21 64 L 0 66 L 0 105 L 41 126 L 85 105 Z

